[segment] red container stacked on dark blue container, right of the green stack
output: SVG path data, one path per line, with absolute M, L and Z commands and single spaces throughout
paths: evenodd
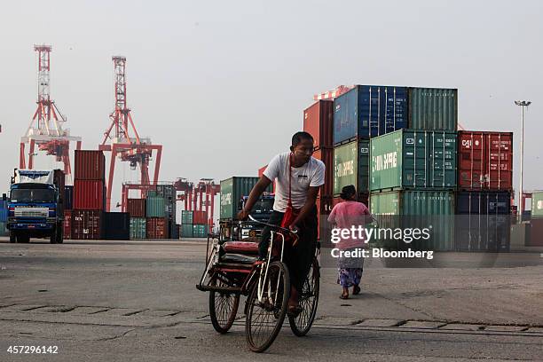
M 508 251 L 513 133 L 460 130 L 456 249 Z

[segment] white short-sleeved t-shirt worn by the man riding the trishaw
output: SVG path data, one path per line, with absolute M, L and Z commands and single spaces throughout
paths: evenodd
M 285 212 L 288 205 L 289 155 L 290 152 L 279 153 L 273 157 L 264 171 L 264 176 L 271 181 L 277 179 L 273 209 L 279 212 Z M 303 166 L 292 168 L 291 200 L 293 208 L 301 209 L 303 207 L 310 186 L 324 185 L 325 169 L 323 161 L 313 157 Z

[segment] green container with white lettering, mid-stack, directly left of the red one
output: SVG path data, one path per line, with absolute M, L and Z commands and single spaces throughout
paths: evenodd
M 455 189 L 457 133 L 397 130 L 370 141 L 370 190 Z

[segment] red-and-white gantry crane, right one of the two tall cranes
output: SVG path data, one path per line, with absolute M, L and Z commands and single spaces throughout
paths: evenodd
M 145 193 L 152 185 L 158 182 L 161 169 L 162 146 L 153 145 L 150 138 L 140 138 L 138 130 L 132 121 L 130 108 L 126 102 L 126 58 L 121 56 L 112 57 L 114 63 L 114 94 L 115 109 L 109 115 L 111 125 L 104 133 L 104 140 L 98 146 L 99 150 L 111 151 L 109 162 L 109 175 L 107 181 L 106 210 L 111 208 L 111 192 L 114 182 L 115 159 L 129 161 L 130 169 L 141 171 L 141 178 L 138 187 Z M 109 144 L 107 144 L 109 142 Z M 149 161 L 152 160 L 153 150 L 156 151 L 154 162 L 153 184 L 149 178 Z

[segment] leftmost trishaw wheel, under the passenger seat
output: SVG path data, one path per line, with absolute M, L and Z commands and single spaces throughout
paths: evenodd
M 211 279 L 210 285 L 228 287 L 224 280 L 217 277 Z M 218 333 L 224 334 L 232 327 L 239 305 L 239 294 L 214 290 L 209 292 L 209 318 Z

